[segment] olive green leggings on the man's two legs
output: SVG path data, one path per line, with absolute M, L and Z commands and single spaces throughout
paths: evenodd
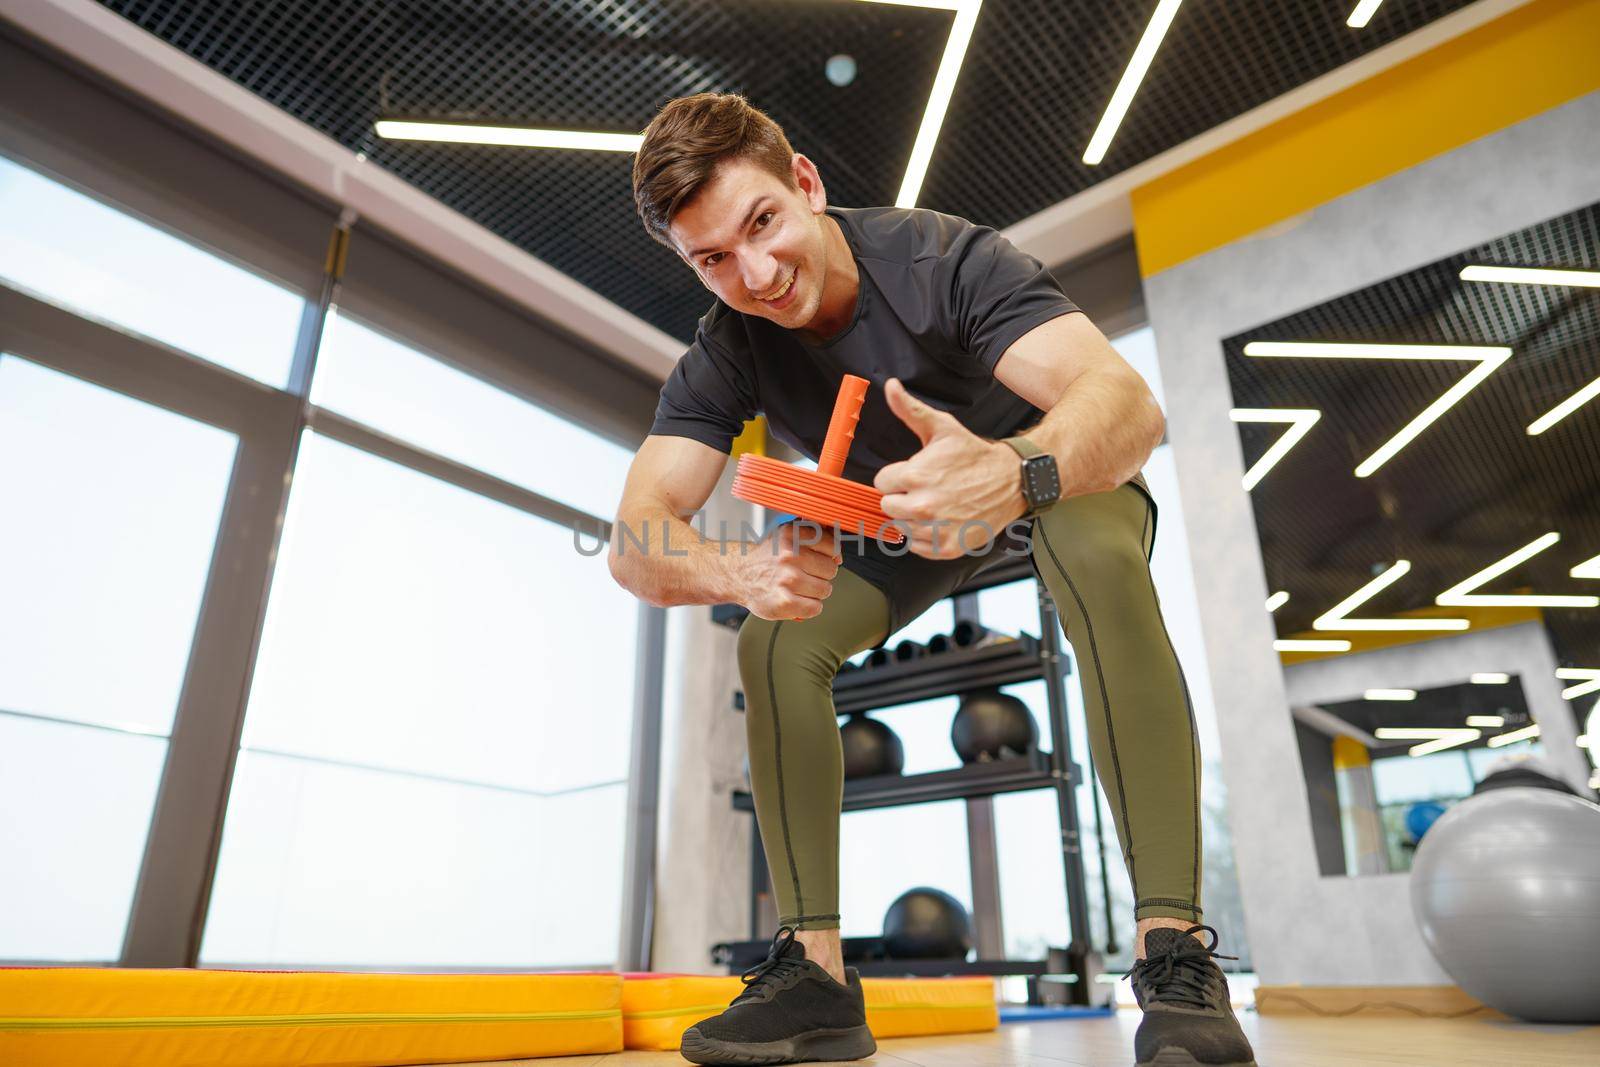
M 1200 750 L 1182 669 L 1150 581 L 1149 499 L 1133 485 L 1069 498 L 1034 522 L 1034 565 L 1077 654 L 1090 747 L 1133 883 L 1136 918 L 1200 920 Z M 947 563 L 939 581 L 891 582 L 909 621 L 995 558 Z M 926 568 L 920 568 L 926 573 Z M 890 598 L 840 568 L 822 613 L 750 616 L 739 629 L 750 790 L 779 921 L 838 926 L 843 755 L 834 675 L 882 643 Z M 1053 853 L 1056 841 L 1040 841 Z

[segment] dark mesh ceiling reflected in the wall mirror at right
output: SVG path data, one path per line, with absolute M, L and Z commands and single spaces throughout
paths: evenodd
M 1600 595 L 1571 577 L 1600 555 L 1600 398 L 1541 435 L 1526 427 L 1600 376 L 1600 290 L 1462 282 L 1467 264 L 1600 269 L 1600 205 L 1547 219 L 1224 341 L 1234 405 L 1323 413 L 1251 491 L 1267 582 L 1290 592 L 1280 633 L 1395 560 L 1413 569 L 1358 609 L 1387 616 L 1536 537 L 1562 541 L 1478 592 Z M 1259 358 L 1251 341 L 1506 346 L 1512 357 L 1368 478 L 1355 466 L 1470 363 Z M 1246 469 L 1282 426 L 1240 424 Z M 1557 656 L 1600 665 L 1600 608 L 1546 608 Z M 1486 664 L 1485 670 L 1494 669 Z

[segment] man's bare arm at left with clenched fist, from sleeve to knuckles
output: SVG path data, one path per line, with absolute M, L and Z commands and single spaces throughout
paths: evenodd
M 658 608 L 739 603 L 763 619 L 819 614 L 838 571 L 834 533 L 787 523 L 763 541 L 723 542 L 702 537 L 688 522 L 726 462 L 723 453 L 686 437 L 646 437 L 611 530 L 611 576 Z

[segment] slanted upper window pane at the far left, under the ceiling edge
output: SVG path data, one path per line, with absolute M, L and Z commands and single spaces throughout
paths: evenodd
M 0 278 L 269 386 L 306 301 L 0 157 Z

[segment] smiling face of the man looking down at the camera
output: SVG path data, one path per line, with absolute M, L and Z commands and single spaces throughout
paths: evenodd
M 822 306 L 827 280 L 827 206 L 822 181 L 794 157 L 790 187 L 744 160 L 717 166 L 709 182 L 672 216 L 678 254 L 707 290 L 736 312 L 800 330 Z

